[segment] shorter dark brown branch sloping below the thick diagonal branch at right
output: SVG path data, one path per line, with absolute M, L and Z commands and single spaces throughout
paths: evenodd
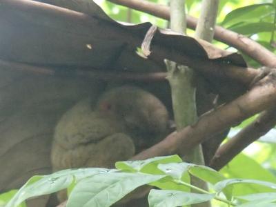
M 215 156 L 210 162 L 210 167 L 215 170 L 223 168 L 239 152 L 242 152 L 248 145 L 265 135 L 276 125 L 276 108 L 262 112 L 253 123 L 243 128 L 235 137 L 232 137 L 226 144 L 219 147 Z

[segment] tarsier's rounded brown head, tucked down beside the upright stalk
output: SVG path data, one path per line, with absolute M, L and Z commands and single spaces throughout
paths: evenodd
M 140 88 L 121 86 L 105 92 L 97 110 L 124 121 L 137 152 L 157 143 L 168 132 L 168 111 L 157 97 Z

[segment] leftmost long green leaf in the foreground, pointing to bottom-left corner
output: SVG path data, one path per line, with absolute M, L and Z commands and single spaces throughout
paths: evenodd
M 108 172 L 108 169 L 104 168 L 80 168 L 75 170 L 61 170 L 51 175 L 31 177 L 18 190 L 17 194 L 8 202 L 6 207 L 19 206 L 19 204 L 31 197 L 55 193 L 67 188 L 73 181 L 106 172 Z

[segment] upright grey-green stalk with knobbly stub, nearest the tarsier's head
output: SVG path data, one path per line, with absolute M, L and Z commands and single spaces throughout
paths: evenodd
M 170 1 L 170 28 L 181 34 L 186 32 L 186 11 L 184 0 Z M 187 66 L 180 66 L 173 61 L 165 60 L 168 70 L 168 81 L 172 91 L 172 108 L 174 112 L 177 131 L 197 121 L 197 108 L 195 102 L 195 86 L 193 86 L 194 72 Z M 201 146 L 196 146 L 184 157 L 188 162 L 203 164 L 204 157 Z M 191 176 L 191 184 L 199 188 L 206 188 L 206 183 L 197 177 Z M 208 188 L 206 188 L 208 189 Z M 210 206 L 208 202 L 194 204 L 196 206 Z

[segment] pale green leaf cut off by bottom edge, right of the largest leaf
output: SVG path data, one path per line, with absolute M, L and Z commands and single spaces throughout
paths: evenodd
M 199 204 L 213 199 L 215 194 L 184 193 L 178 190 L 150 190 L 148 203 L 150 207 L 175 207 Z

